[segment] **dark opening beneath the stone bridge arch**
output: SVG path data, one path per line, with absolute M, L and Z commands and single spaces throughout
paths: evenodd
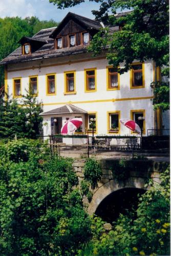
M 101 201 L 95 211 L 95 215 L 112 224 L 119 217 L 119 214 L 126 214 L 127 211 L 137 209 L 139 195 L 144 193 L 145 190 L 141 188 L 115 190 Z

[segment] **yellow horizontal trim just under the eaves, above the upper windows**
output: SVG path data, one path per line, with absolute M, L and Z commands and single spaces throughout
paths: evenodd
M 23 69 L 13 69 L 13 70 L 8 70 L 8 72 L 17 72 L 17 71 L 23 71 L 23 70 L 34 70 L 34 69 L 39 69 L 39 68 L 50 68 L 50 67 L 56 67 L 56 66 L 62 66 L 62 65 L 71 65 L 74 63 L 81 63 L 81 62 L 87 62 L 87 61 L 93 61 L 93 60 L 100 60 L 100 59 L 105 59 L 106 57 L 97 57 L 97 58 L 89 58 L 89 59 L 81 59 L 81 60 L 74 60 L 74 61 L 67 61 L 67 62 L 61 62 L 61 63 L 56 63 L 56 64 L 50 64 L 50 65 L 43 65 L 43 66 L 32 66 L 29 68 L 23 68 Z

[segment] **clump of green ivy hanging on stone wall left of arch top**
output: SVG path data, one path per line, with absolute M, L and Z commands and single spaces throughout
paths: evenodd
M 101 176 L 102 176 L 102 170 L 97 160 L 94 158 L 88 158 L 84 165 L 85 180 L 90 182 L 92 188 L 95 188 Z

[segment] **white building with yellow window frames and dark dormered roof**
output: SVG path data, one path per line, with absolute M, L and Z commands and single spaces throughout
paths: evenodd
M 87 46 L 101 26 L 68 13 L 57 28 L 23 37 L 22 46 L 1 62 L 9 97 L 22 100 L 31 86 L 42 102 L 45 136 L 60 133 L 62 124 L 74 117 L 83 120 L 78 134 L 86 129 L 91 133 L 90 118 L 96 118 L 98 135 L 131 135 L 119 119 L 138 122 L 139 116 L 145 117 L 144 135 L 149 129 L 162 129 L 161 113 L 153 110 L 150 86 L 160 79 L 159 68 L 152 60 L 135 60 L 132 70 L 120 75 L 119 67 L 109 66 L 105 52 L 93 57 Z

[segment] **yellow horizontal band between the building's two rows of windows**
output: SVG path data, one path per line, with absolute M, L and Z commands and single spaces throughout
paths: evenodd
M 148 97 L 137 97 L 137 98 L 120 98 L 120 99 L 99 99 L 99 100 L 83 100 L 83 101 L 65 101 L 65 102 L 54 102 L 54 103 L 42 103 L 42 105 L 61 105 L 61 104 L 79 104 L 79 103 L 97 103 L 97 102 L 115 102 L 124 100 L 143 100 L 143 99 L 153 99 L 154 96 Z

